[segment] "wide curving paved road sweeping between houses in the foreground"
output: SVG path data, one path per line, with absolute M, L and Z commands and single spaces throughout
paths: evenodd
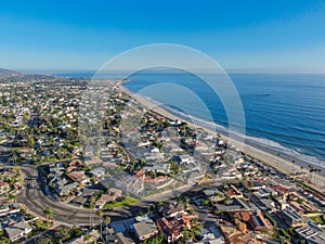
M 53 220 L 56 221 L 76 226 L 100 223 L 100 218 L 95 214 L 96 210 L 57 202 L 53 200 L 51 195 L 48 195 L 44 190 L 44 182 L 36 166 L 24 165 L 21 166 L 21 170 L 24 176 L 25 188 L 18 193 L 16 198 L 17 203 L 25 205 L 30 211 L 41 217 L 46 217 L 43 209 L 49 207 L 53 210 Z M 197 191 L 209 184 L 211 184 L 211 182 L 192 187 L 191 190 Z M 188 189 L 190 187 L 186 187 L 185 189 L 165 192 L 131 206 L 114 208 L 114 210 L 105 213 L 105 215 L 109 215 L 112 221 L 121 220 L 134 216 L 138 213 L 144 213 L 153 202 L 171 198 L 176 196 L 176 194 Z

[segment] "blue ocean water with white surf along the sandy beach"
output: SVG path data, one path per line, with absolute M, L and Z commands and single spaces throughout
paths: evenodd
M 90 73 L 55 75 L 92 77 Z M 247 141 L 325 166 L 325 75 L 229 76 L 243 104 Z M 171 113 L 184 118 L 191 115 L 224 128 L 230 126 L 222 102 L 197 76 L 183 72 L 142 70 L 128 78 L 123 84 L 126 88 L 141 91 Z M 182 90 L 190 97 L 184 98 L 186 92 Z M 198 99 L 191 99 L 191 92 Z

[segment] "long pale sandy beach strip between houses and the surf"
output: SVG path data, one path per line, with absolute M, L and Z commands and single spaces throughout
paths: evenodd
M 166 108 L 159 106 L 158 104 L 155 104 L 153 101 L 150 101 L 148 99 L 144 98 L 143 95 L 130 91 L 129 89 L 123 87 L 122 84 L 123 82 L 119 82 L 117 85 L 120 88 L 120 90 L 122 92 L 126 92 L 127 94 L 129 94 L 132 99 L 136 100 L 145 108 L 151 110 L 151 111 L 153 111 L 161 116 L 165 116 L 167 118 L 185 120 L 190 127 L 203 128 L 210 134 L 217 136 L 217 133 L 220 133 L 222 140 L 229 142 L 229 136 L 225 134 L 224 132 L 218 131 L 218 129 L 216 131 L 213 131 L 211 128 L 207 128 L 207 126 L 205 126 L 205 125 L 202 125 L 198 123 L 195 124 L 195 123 L 193 123 L 193 120 L 190 121 L 185 118 L 177 116 L 177 115 L 170 113 L 169 111 L 167 111 Z M 213 128 L 213 129 L 216 129 L 216 128 Z M 247 155 L 249 155 L 256 159 L 259 159 L 262 163 L 264 163 L 265 165 L 271 166 L 272 168 L 277 169 L 280 172 L 283 172 L 286 175 L 289 175 L 292 172 L 307 172 L 307 176 L 309 176 L 310 175 L 309 165 L 312 165 L 314 168 L 323 169 L 322 166 L 313 165 L 312 163 L 306 162 L 301 158 L 294 157 L 294 156 L 283 153 L 281 151 L 268 149 L 263 145 L 259 145 L 258 143 L 252 143 L 251 141 L 248 142 L 247 140 L 245 140 L 245 138 L 243 141 L 244 142 L 243 146 L 240 146 L 240 142 L 238 140 L 231 139 L 231 142 L 235 147 L 240 147 L 242 151 L 244 153 L 246 153 Z M 280 154 L 280 156 L 277 156 L 277 154 Z M 292 160 L 295 160 L 295 163 L 292 163 Z M 303 167 L 303 169 L 301 169 L 301 167 Z M 313 174 L 311 177 L 311 182 L 310 183 L 306 182 L 306 184 L 315 189 L 316 191 L 320 191 L 323 193 L 324 187 L 325 187 L 325 177 L 324 177 L 325 172 L 324 171 L 325 170 L 322 170 L 322 174 L 320 174 L 320 175 Z

